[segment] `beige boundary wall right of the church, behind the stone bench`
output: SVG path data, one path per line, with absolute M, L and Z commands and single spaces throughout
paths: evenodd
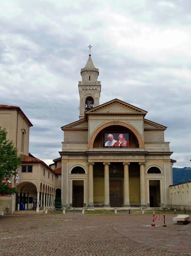
M 191 181 L 170 186 L 171 209 L 191 211 Z

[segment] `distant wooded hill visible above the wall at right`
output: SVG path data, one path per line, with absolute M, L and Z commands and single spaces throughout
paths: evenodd
M 173 173 L 173 184 L 178 184 L 186 181 L 191 181 L 191 168 L 172 168 Z

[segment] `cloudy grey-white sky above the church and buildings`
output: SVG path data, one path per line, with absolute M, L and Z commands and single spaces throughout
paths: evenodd
M 190 0 L 1 0 L 0 104 L 33 123 L 29 151 L 59 157 L 60 126 L 78 120 L 80 69 L 99 68 L 100 103 L 140 107 L 168 126 L 175 167 L 191 162 Z

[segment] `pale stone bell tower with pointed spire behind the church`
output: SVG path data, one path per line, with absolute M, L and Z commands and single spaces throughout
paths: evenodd
M 84 118 L 85 111 L 100 105 L 101 84 L 100 81 L 97 81 L 99 69 L 94 67 L 91 54 L 89 54 L 85 68 L 81 69 L 81 76 L 82 81 L 78 83 L 80 94 L 80 119 Z

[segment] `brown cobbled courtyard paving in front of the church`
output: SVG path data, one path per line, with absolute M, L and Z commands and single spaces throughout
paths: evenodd
M 191 255 L 191 223 L 173 216 L 167 227 L 150 214 L 1 216 L 0 255 Z

